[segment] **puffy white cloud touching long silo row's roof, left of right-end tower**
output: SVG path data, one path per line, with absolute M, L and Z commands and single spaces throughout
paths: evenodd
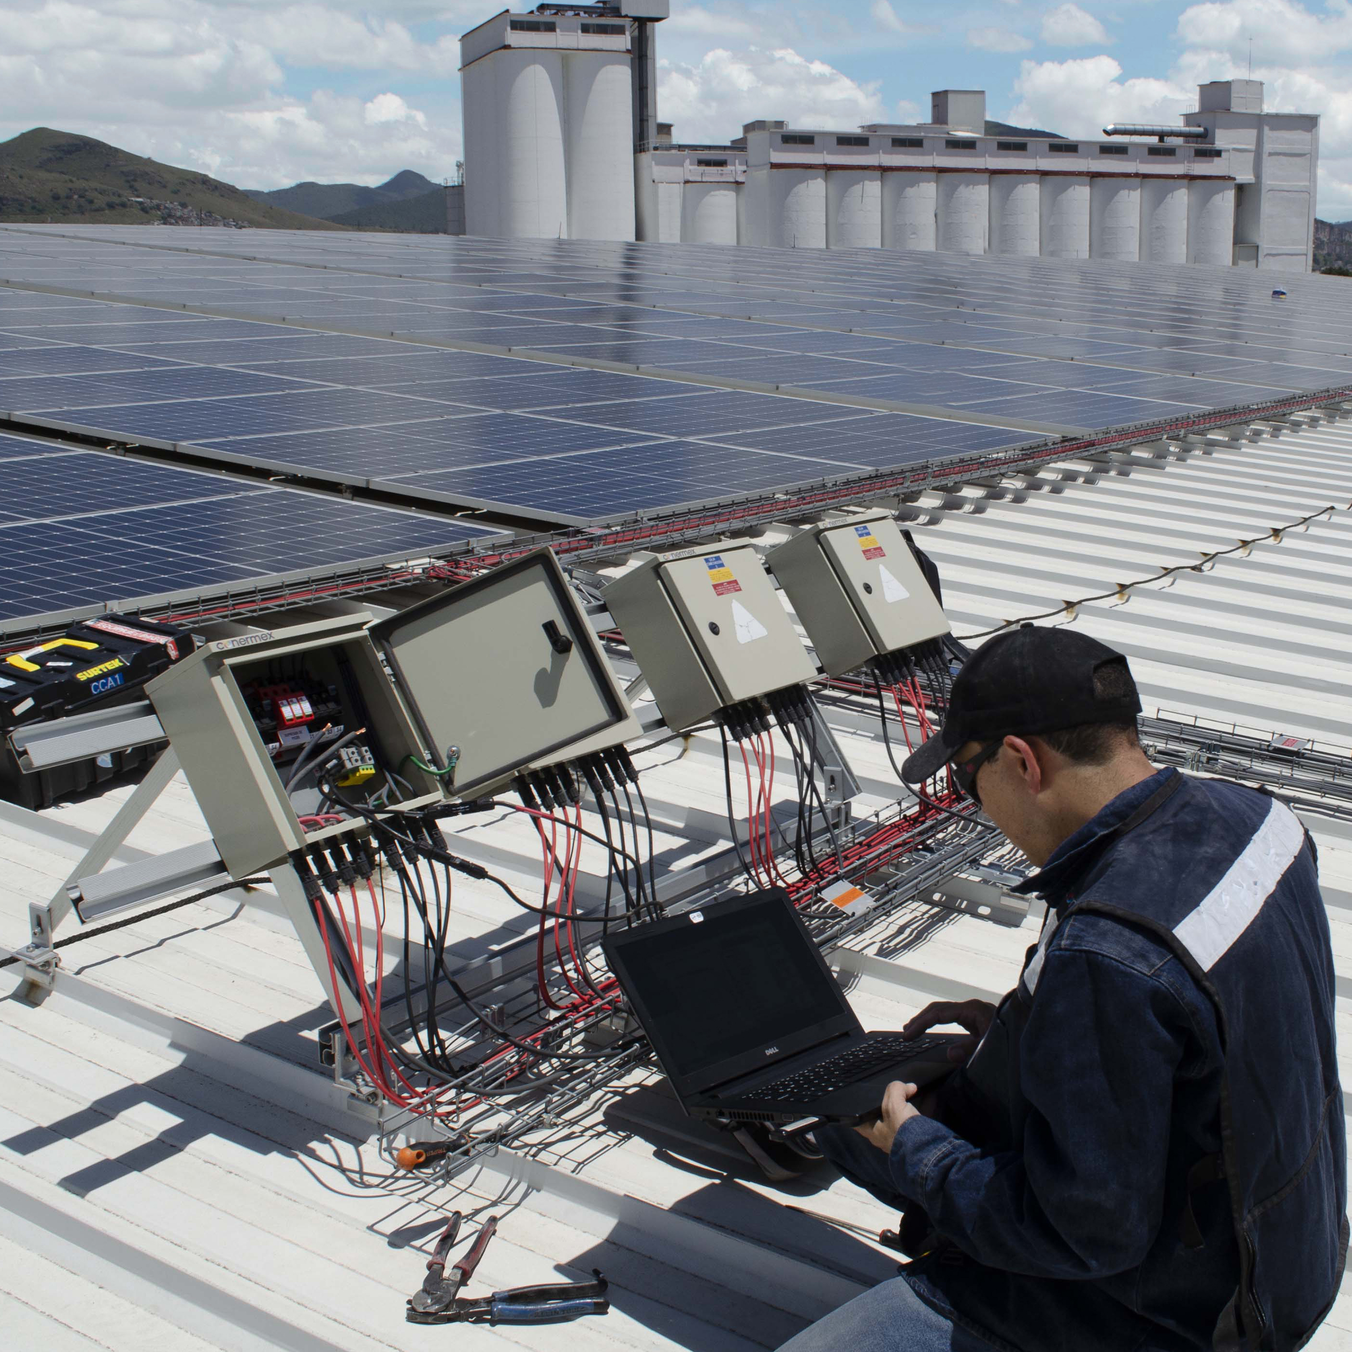
M 1014 81 L 1018 103 L 1005 115 L 1021 127 L 1095 137 L 1110 122 L 1178 122 L 1197 107 L 1197 89 L 1174 80 L 1121 80 L 1111 57 L 1023 61 Z

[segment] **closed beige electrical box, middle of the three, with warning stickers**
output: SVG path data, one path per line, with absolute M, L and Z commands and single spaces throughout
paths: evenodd
M 653 554 L 604 600 L 676 731 L 817 676 L 750 541 Z

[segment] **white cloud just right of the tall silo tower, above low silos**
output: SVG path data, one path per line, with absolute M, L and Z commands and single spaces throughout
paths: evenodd
M 876 81 L 860 84 L 791 47 L 722 47 L 698 64 L 660 64 L 657 105 L 683 141 L 722 141 L 742 123 L 780 118 L 800 127 L 856 127 L 887 112 Z

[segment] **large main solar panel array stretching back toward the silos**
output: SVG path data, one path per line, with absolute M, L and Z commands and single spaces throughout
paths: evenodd
M 0 227 L 0 415 L 583 525 L 1352 388 L 1337 284 L 1283 281 L 1278 300 L 1240 269 L 1101 261 Z M 69 506 L 192 518 L 99 473 Z M 297 499 L 379 511 L 235 483 L 196 516 L 239 531 L 212 566 L 289 568 L 297 533 L 268 512 Z M 266 557 L 231 525 L 254 514 Z M 403 548 L 396 514 L 349 519 L 330 533 L 377 542 L 383 521 Z M 53 573 L 19 604 L 65 595 Z

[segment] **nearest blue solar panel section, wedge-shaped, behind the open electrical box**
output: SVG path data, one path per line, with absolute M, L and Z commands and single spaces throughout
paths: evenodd
M 0 434 L 0 634 L 423 558 L 483 527 Z

